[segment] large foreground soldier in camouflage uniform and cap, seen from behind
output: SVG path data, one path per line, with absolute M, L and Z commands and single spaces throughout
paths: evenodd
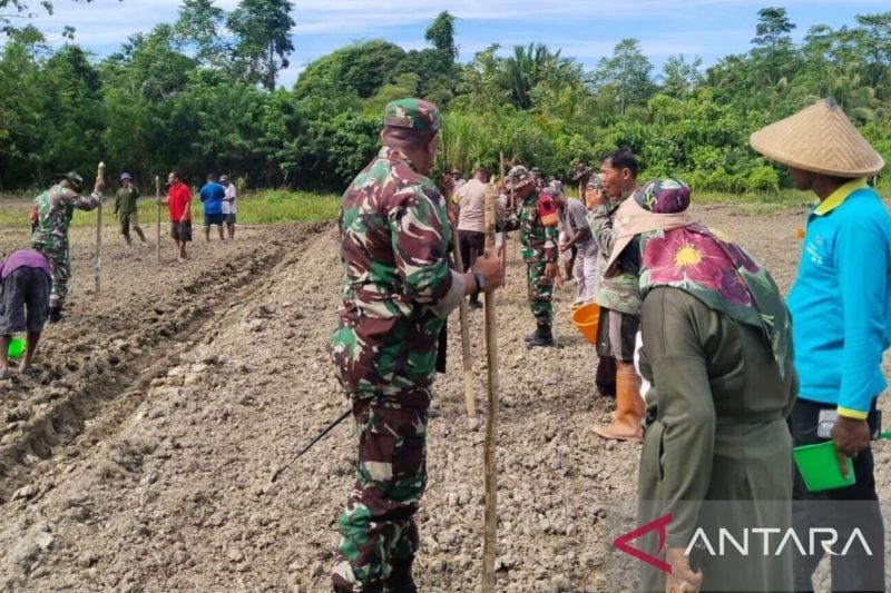
M 427 175 L 441 118 L 401 99 L 384 110 L 383 148 L 343 195 L 342 306 L 330 355 L 356 422 L 356 483 L 340 518 L 335 591 L 417 591 L 412 516 L 427 483 L 425 437 L 438 337 L 466 295 L 496 288 L 500 261 L 450 269 L 447 205 Z

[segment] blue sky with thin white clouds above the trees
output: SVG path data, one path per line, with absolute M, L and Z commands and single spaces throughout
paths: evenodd
M 36 3 L 36 2 L 33 2 Z M 225 10 L 237 0 L 217 0 Z M 405 49 L 427 47 L 424 30 L 441 11 L 457 22 L 460 59 L 498 42 L 505 48 L 530 41 L 562 48 L 587 68 L 613 51 L 620 39 L 639 39 L 644 52 L 657 67 L 668 56 L 701 56 L 714 63 L 750 49 L 757 11 L 765 6 L 786 8 L 800 40 L 817 23 L 839 28 L 855 23 L 854 16 L 889 10 L 888 0 L 742 1 L 742 0 L 452 0 L 411 2 L 385 0 L 296 0 L 293 18 L 295 51 L 291 67 L 280 76 L 290 88 L 307 62 L 347 43 L 382 38 Z M 53 16 L 41 16 L 35 24 L 52 42 L 61 42 L 65 24 L 77 30 L 75 40 L 101 57 L 118 49 L 127 36 L 148 31 L 159 22 L 176 20 L 178 0 L 94 0 L 90 4 L 55 0 Z

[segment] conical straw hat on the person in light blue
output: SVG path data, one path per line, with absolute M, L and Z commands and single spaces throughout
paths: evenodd
M 832 98 L 762 128 L 748 144 L 783 165 L 835 177 L 869 177 L 884 167 L 881 155 Z

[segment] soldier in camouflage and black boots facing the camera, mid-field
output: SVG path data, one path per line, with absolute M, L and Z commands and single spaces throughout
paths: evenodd
M 522 259 L 526 261 L 526 280 L 529 307 L 536 318 L 536 330 L 526 336 L 529 348 L 554 346 L 551 332 L 551 293 L 557 276 L 557 243 L 559 231 L 554 201 L 542 197 L 537 187 L 537 177 L 522 165 L 517 165 L 507 175 L 507 188 L 513 190 L 517 211 L 499 220 L 499 230 L 520 229 Z M 542 204 L 550 201 L 554 219 L 542 219 Z

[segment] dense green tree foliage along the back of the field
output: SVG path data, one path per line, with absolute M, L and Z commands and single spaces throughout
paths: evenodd
M 0 9 L 29 2 L 0 0 Z M 33 2 L 30 2 L 33 4 Z M 698 189 L 774 192 L 786 172 L 748 135 L 833 96 L 891 162 L 891 12 L 853 27 L 811 28 L 801 43 L 782 8 L 758 11 L 751 50 L 704 69 L 669 58 L 662 72 L 635 39 L 586 71 L 541 45 L 497 45 L 457 62 L 454 18 L 439 14 L 430 47 L 383 40 L 310 63 L 275 88 L 293 49 L 292 2 L 184 0 L 175 23 L 133 36 L 97 60 L 74 41 L 52 49 L 32 27 L 7 29 L 0 50 L 0 186 L 47 184 L 99 159 L 147 179 L 227 171 L 248 185 L 340 190 L 374 154 L 381 108 L 404 97 L 446 110 L 439 167 L 470 172 L 525 162 L 568 178 L 616 147 L 644 176 Z

